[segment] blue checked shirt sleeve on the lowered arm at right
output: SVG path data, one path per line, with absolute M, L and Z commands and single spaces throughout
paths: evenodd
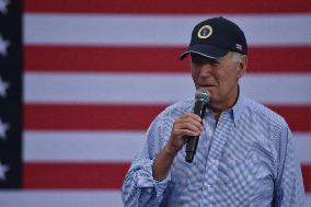
M 303 207 L 304 189 L 300 164 L 292 145 L 292 135 L 287 127 L 281 133 L 280 173 L 276 186 L 276 206 Z

